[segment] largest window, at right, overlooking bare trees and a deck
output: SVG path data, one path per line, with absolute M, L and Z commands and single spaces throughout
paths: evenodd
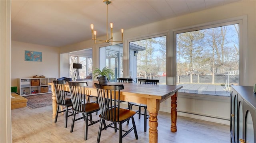
M 239 24 L 176 32 L 179 92 L 230 95 L 239 83 Z

